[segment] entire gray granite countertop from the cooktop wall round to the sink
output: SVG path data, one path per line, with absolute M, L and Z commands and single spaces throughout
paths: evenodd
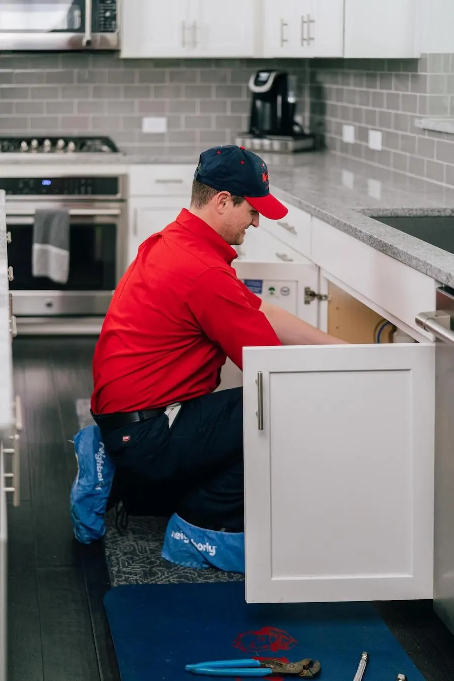
M 157 149 L 137 155 L 0 154 L 0 172 L 1 166 L 5 165 L 5 174 L 16 174 L 15 168 L 6 168 L 12 164 L 20 168 L 20 174 L 24 172 L 24 165 L 29 165 L 34 174 L 41 165 L 52 165 L 52 170 L 65 165 L 83 170 L 90 165 L 103 165 L 102 172 L 122 174 L 127 173 L 129 166 L 137 164 L 183 163 L 195 168 L 201 150 L 194 146 L 178 153 L 172 151 L 164 153 Z M 330 151 L 262 153 L 261 156 L 268 165 L 270 185 L 276 196 L 440 283 L 454 287 L 454 254 L 371 217 L 454 216 L 454 187 L 444 187 Z M 79 169 L 78 174 L 82 172 Z

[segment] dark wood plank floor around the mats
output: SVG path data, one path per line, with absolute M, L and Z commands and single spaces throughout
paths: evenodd
M 109 588 L 103 551 L 99 544 L 79 545 L 69 520 L 76 460 L 68 440 L 78 430 L 76 399 L 91 394 L 94 343 L 93 338 L 14 340 L 24 430 L 22 501 L 8 509 L 8 681 L 119 678 L 102 604 Z M 426 681 L 453 681 L 454 637 L 431 602 L 377 607 Z

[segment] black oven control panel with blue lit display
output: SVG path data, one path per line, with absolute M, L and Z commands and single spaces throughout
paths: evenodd
M 114 196 L 119 195 L 116 177 L 6 177 L 0 189 L 8 196 Z

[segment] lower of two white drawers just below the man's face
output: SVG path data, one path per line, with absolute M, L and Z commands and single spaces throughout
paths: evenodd
M 235 249 L 240 262 L 309 262 L 304 255 L 261 227 L 249 227 L 244 242 Z

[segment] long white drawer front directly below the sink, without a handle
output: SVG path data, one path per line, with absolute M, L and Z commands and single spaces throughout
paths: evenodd
M 312 218 L 312 259 L 328 279 L 331 274 L 375 307 L 432 339 L 415 322 L 419 312 L 435 309 L 436 282 L 429 276 L 317 218 Z

